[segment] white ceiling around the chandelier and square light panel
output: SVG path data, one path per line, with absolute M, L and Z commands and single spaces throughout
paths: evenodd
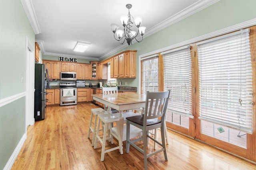
M 123 28 L 119 17 L 128 15 L 126 4 L 132 4 L 132 16 L 142 17 L 147 37 L 218 0 L 31 1 L 24 8 L 42 53 L 98 60 L 128 46 L 114 39 L 110 27 L 111 23 L 117 23 Z M 74 52 L 77 41 L 91 45 L 84 53 Z

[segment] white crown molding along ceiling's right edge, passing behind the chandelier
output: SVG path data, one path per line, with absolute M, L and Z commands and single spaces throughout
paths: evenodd
M 220 0 L 200 0 L 190 6 L 188 6 L 187 8 L 185 8 L 184 10 L 182 10 L 181 12 L 178 12 L 177 14 L 167 18 L 166 20 L 158 23 L 157 25 L 155 25 L 154 27 L 148 29 L 147 33 L 144 35 L 144 38 L 166 28 L 169 27 L 170 25 L 183 20 L 184 18 L 218 2 Z M 137 41 L 135 41 L 134 43 L 137 43 Z M 110 56 L 113 53 L 116 53 L 118 51 L 120 51 L 121 49 L 124 49 L 125 47 L 128 47 L 128 44 L 125 45 L 119 45 L 118 47 L 112 49 L 111 51 L 109 51 L 108 53 L 105 53 L 104 55 L 100 56 L 99 59 L 103 59 L 104 57 Z

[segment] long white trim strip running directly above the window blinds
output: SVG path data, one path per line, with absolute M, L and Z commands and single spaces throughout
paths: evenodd
M 142 55 L 139 55 L 139 58 L 143 58 L 143 57 L 147 57 L 147 56 L 150 56 L 150 55 L 162 53 L 162 52 L 168 51 L 170 49 L 175 49 L 175 48 L 178 48 L 178 47 L 182 47 L 184 45 L 188 45 L 188 44 L 191 44 L 191 43 L 196 43 L 196 42 L 199 42 L 199 41 L 210 39 L 212 37 L 220 36 L 220 35 L 230 33 L 230 32 L 233 32 L 233 31 L 238 31 L 240 29 L 251 27 L 253 25 L 256 25 L 256 19 L 252 19 L 252 20 L 248 20 L 248 21 L 245 21 L 245 22 L 242 22 L 242 23 L 238 23 L 236 25 L 232 25 L 230 27 L 226 27 L 224 29 L 214 31 L 212 33 L 208 33 L 208 34 L 202 35 L 200 37 L 189 39 L 189 40 L 183 41 L 181 43 L 177 43 L 177 44 L 174 44 L 174 45 L 171 45 L 171 46 L 168 46 L 168 47 L 164 47 L 162 49 L 151 51 L 151 52 L 146 53 L 146 54 L 142 54 Z

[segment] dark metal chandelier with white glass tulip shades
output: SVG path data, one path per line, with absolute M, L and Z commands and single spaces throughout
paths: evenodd
M 124 44 L 124 41 L 126 40 L 128 45 L 132 44 L 132 40 L 135 39 L 137 42 L 141 42 L 143 39 L 143 35 L 145 33 L 145 29 L 146 27 L 141 27 L 141 21 L 142 18 L 141 17 L 135 17 L 133 18 L 133 16 L 130 14 L 130 9 L 132 8 L 131 4 L 127 4 L 126 8 L 128 8 L 128 17 L 127 16 L 121 16 L 120 20 L 122 22 L 122 25 L 124 26 L 124 31 L 121 29 L 118 29 L 119 26 L 115 23 L 111 24 L 111 28 L 112 28 L 112 32 L 114 33 L 114 38 L 119 41 L 120 44 Z M 132 20 L 131 17 L 134 20 L 134 23 L 137 27 L 137 32 L 136 31 L 132 31 Z M 116 38 L 115 33 L 117 35 L 118 38 Z M 124 35 L 123 35 L 124 33 Z M 139 35 L 142 36 L 142 39 L 140 41 L 138 41 L 138 39 L 136 39 L 136 37 Z

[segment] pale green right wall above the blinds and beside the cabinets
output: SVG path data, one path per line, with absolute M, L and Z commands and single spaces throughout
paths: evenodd
M 130 45 L 106 58 L 125 50 L 138 50 L 137 78 L 118 79 L 118 82 L 128 82 L 128 86 L 138 87 L 139 55 L 175 45 L 244 21 L 252 20 L 256 18 L 255 7 L 256 0 L 220 0 L 153 35 L 146 37 L 142 42 L 134 43 L 134 45 Z

